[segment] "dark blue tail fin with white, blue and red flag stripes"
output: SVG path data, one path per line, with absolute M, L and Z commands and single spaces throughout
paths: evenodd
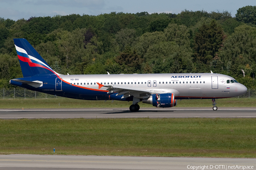
M 26 39 L 13 39 L 23 77 L 59 75 L 46 63 Z

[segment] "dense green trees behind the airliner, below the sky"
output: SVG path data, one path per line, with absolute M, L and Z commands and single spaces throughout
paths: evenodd
M 25 38 L 65 75 L 212 70 L 256 88 L 255 10 L 0 18 L 0 87 L 22 77 L 13 38 Z

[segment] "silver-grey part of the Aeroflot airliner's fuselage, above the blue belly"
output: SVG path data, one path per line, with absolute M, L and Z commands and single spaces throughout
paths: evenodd
M 91 90 L 99 90 L 97 83 L 100 83 L 104 86 L 174 93 L 177 99 L 227 98 L 247 92 L 247 88 L 242 84 L 231 83 L 234 78 L 214 73 L 60 75 L 60 77 L 71 86 L 75 84 Z M 104 91 L 107 89 L 107 87 L 100 88 Z

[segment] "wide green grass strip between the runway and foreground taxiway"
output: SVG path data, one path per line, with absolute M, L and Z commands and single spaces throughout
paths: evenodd
M 255 129 L 254 118 L 0 120 L 0 154 L 255 158 Z

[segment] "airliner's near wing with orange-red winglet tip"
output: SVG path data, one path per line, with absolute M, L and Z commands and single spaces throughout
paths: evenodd
M 134 96 L 134 97 L 140 97 L 140 94 L 145 94 L 145 96 L 148 96 L 150 94 L 157 94 L 157 93 L 166 93 L 162 90 L 159 89 L 140 89 L 140 88 L 134 88 L 134 87 L 127 87 L 127 86 L 120 86 L 120 85 L 116 85 L 116 84 L 112 84 L 112 85 L 103 85 L 100 83 L 97 83 L 99 85 L 99 89 L 102 87 L 106 87 L 108 89 L 106 89 L 108 91 L 108 93 L 117 93 L 116 95 L 123 95 L 123 97 L 121 98 L 127 98 L 130 96 Z

